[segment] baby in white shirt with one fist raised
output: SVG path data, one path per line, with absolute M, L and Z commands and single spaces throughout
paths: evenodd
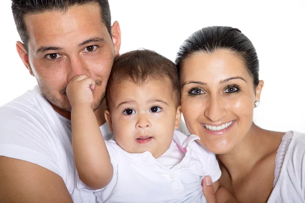
M 199 137 L 175 130 L 181 120 L 175 64 L 149 50 L 114 60 L 106 90 L 109 141 L 93 111 L 94 88 L 85 75 L 67 87 L 77 187 L 95 191 L 98 202 L 206 202 L 201 181 L 210 176 L 217 190 L 221 171 Z

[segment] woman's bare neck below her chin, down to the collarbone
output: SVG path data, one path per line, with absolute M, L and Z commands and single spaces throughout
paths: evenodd
M 238 181 L 251 173 L 265 157 L 274 153 L 281 143 L 277 132 L 271 132 L 252 124 L 245 139 L 226 154 L 217 155 L 222 171 L 226 171 L 231 181 Z

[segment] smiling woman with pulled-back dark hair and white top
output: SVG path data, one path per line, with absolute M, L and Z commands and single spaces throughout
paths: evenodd
M 198 142 L 217 154 L 221 185 L 239 202 L 305 202 L 305 135 L 253 123 L 264 82 L 251 41 L 232 27 L 206 27 L 181 45 L 175 62 L 181 111 Z

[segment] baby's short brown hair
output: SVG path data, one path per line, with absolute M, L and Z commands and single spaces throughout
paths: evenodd
M 175 64 L 168 58 L 147 49 L 124 53 L 114 59 L 108 86 L 106 103 L 109 107 L 111 88 L 124 81 L 144 85 L 149 80 L 165 80 L 172 87 L 177 106 L 180 104 L 180 82 Z M 128 91 L 128 90 L 126 90 Z

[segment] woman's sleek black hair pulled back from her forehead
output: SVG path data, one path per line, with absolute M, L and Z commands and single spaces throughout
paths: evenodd
M 254 87 L 258 85 L 259 62 L 255 48 L 251 41 L 239 29 L 225 26 L 204 27 L 194 32 L 180 46 L 175 64 L 179 74 L 184 60 L 196 53 L 212 53 L 226 49 L 237 54 L 252 76 Z

